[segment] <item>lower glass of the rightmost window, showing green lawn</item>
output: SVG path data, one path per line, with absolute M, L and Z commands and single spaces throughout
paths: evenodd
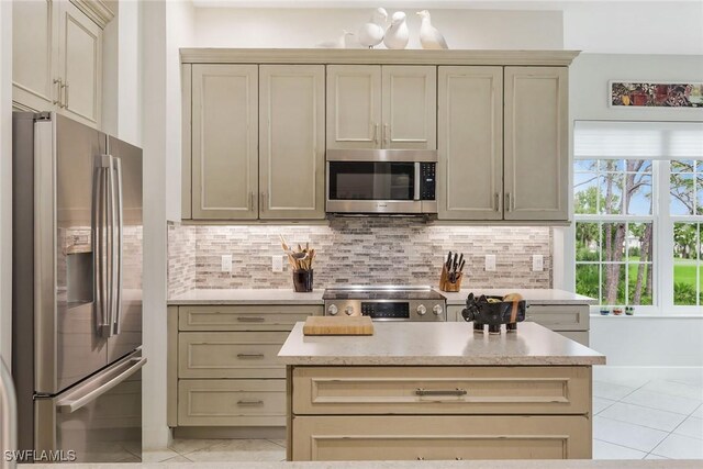
M 673 304 L 695 305 L 699 287 L 699 230 L 696 223 L 673 225 Z

